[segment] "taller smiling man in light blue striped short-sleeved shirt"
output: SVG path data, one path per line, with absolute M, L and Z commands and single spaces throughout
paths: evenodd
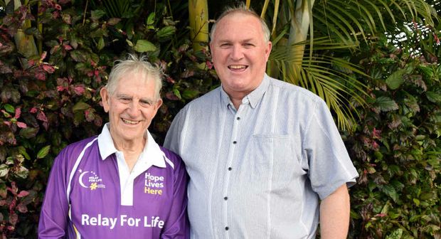
M 322 99 L 265 75 L 270 31 L 225 11 L 211 30 L 221 87 L 176 116 L 164 145 L 190 176 L 191 238 L 346 238 L 358 176 Z

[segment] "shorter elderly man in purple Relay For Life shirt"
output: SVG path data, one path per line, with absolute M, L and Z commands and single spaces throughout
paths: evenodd
M 144 58 L 112 68 L 100 91 L 110 122 L 55 159 L 38 238 L 188 238 L 184 164 L 147 130 L 160 90 Z

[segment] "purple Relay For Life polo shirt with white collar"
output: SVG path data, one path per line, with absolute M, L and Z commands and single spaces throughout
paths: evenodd
M 131 172 L 107 126 L 63 149 L 49 177 L 38 238 L 188 238 L 184 163 L 149 132 L 146 137 Z

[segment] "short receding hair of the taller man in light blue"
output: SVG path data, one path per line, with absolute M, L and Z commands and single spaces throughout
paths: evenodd
M 237 14 L 237 13 L 255 16 L 257 19 L 259 19 L 260 25 L 262 25 L 262 31 L 265 41 L 266 42 L 270 41 L 271 32 L 270 32 L 270 28 L 268 28 L 267 26 L 267 23 L 265 23 L 265 21 L 262 18 L 260 18 L 260 16 L 253 9 L 248 9 L 243 2 L 238 6 L 228 6 L 227 8 L 225 8 L 221 16 L 218 17 L 218 20 L 216 20 L 216 22 L 211 27 L 211 32 L 210 32 L 211 41 L 213 41 L 214 39 L 214 33 L 216 32 L 216 24 L 219 21 L 221 21 L 221 19 L 224 18 L 225 16 L 228 16 L 230 14 Z

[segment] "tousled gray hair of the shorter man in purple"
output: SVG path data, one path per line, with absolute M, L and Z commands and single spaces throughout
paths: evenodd
M 115 60 L 115 65 L 110 71 L 109 81 L 105 87 L 110 95 L 116 90 L 119 80 L 129 73 L 135 73 L 137 77 L 142 78 L 145 83 L 149 80 L 154 81 L 155 100 L 161 95 L 162 87 L 162 70 L 159 66 L 154 66 L 147 61 L 147 56 L 142 55 L 140 58 L 134 54 L 128 54 L 125 60 Z

